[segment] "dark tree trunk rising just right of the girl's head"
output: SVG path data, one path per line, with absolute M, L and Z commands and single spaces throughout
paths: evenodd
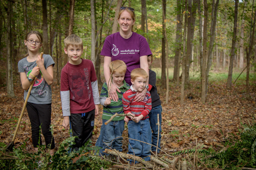
M 47 23 L 47 1 L 42 0 L 42 12 L 43 12 L 43 43 L 44 43 L 44 53 L 49 54 L 48 47 L 48 23 Z

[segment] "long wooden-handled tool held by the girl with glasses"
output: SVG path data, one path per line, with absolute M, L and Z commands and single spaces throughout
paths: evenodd
M 43 54 L 44 54 L 44 53 L 41 53 L 41 54 L 40 54 L 40 57 L 41 57 L 41 58 L 43 57 Z M 36 78 L 35 78 L 35 79 L 36 79 Z M 18 124 L 17 124 L 17 126 L 16 126 L 16 129 L 15 129 L 15 132 L 14 132 L 14 135 L 13 135 L 13 140 L 12 140 L 12 142 L 6 147 L 6 151 L 10 151 L 10 152 L 11 152 L 11 151 L 13 150 L 13 147 L 14 147 L 14 140 L 15 140 L 15 137 L 16 137 L 17 132 L 18 132 L 18 130 L 19 130 L 19 125 L 20 125 L 20 122 L 21 122 L 23 113 L 24 113 L 24 111 L 25 111 L 25 108 L 26 108 L 26 105 L 27 105 L 27 102 L 28 102 L 28 98 L 29 98 L 29 95 L 30 95 L 31 90 L 32 90 L 32 88 L 33 88 L 33 84 L 34 84 L 35 79 L 32 81 L 32 83 L 31 83 L 30 86 L 29 86 L 28 94 L 27 94 L 26 100 L 25 100 L 25 102 L 24 102 L 24 105 L 23 105 L 21 114 L 20 114 L 20 116 L 19 116 L 19 121 L 18 121 Z

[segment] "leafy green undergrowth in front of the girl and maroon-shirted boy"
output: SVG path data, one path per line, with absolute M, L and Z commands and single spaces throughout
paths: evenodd
M 26 152 L 26 143 L 14 149 L 13 153 L 5 151 L 6 144 L 0 143 L 0 169 L 100 169 L 110 165 L 101 160 L 94 152 L 98 152 L 89 141 L 78 151 L 70 151 L 74 144 L 74 138 L 70 137 L 59 143 L 58 150 L 53 156 L 45 145 L 39 147 L 37 153 Z

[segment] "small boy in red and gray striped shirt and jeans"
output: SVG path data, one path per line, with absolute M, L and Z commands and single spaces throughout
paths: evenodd
M 147 78 L 148 75 L 144 69 L 136 68 L 132 70 L 132 85 L 130 89 L 123 94 L 122 100 L 124 113 L 134 116 L 126 116 L 124 118 L 127 123 L 129 138 L 131 138 L 129 139 L 128 154 L 134 154 L 135 156 L 140 156 L 145 161 L 150 161 L 151 145 L 149 144 L 152 143 L 152 132 L 148 116 L 148 113 L 151 111 L 150 92 L 147 91 L 144 99 L 140 102 L 137 102 L 134 99 L 137 92 L 144 90 Z

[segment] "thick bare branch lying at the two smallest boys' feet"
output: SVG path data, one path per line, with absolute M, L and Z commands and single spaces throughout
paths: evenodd
M 115 155 L 115 156 L 121 156 L 121 157 L 126 158 L 126 159 L 132 159 L 132 160 L 135 160 L 137 162 L 142 163 L 145 166 L 153 166 L 150 162 L 143 160 L 139 156 L 135 156 L 135 155 L 131 155 L 131 154 L 125 154 L 125 153 L 122 153 L 122 152 L 119 152 L 119 151 L 116 151 L 116 150 L 110 150 L 110 149 L 105 149 L 105 151 L 103 151 L 103 152 L 107 153 L 107 154 Z

